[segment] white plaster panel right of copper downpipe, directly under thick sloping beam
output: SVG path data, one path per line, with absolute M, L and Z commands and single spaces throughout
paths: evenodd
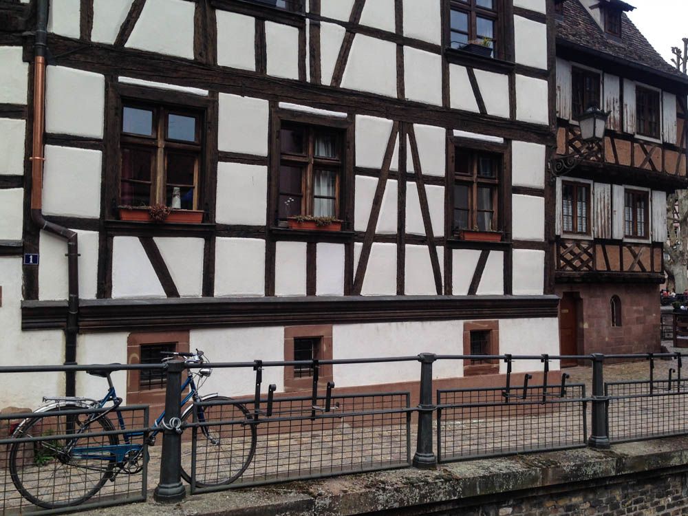
M 105 77 L 49 66 L 45 85 L 45 131 L 103 138 Z

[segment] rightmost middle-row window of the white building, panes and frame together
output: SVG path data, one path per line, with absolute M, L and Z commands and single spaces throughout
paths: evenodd
M 499 217 L 499 154 L 456 149 L 453 229 L 497 231 Z

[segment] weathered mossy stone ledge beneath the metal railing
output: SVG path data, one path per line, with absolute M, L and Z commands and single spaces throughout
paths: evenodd
M 413 506 L 464 506 L 469 499 L 570 484 L 607 483 L 637 473 L 688 470 L 688 437 L 512 455 L 195 495 L 173 506 L 151 502 L 94 511 L 103 515 L 345 516 Z M 154 481 L 156 472 L 151 475 Z

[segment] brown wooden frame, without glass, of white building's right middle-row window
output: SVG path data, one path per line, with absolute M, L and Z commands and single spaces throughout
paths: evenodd
M 461 174 L 456 171 L 456 154 L 458 150 L 471 153 L 471 174 Z M 480 154 L 493 155 L 498 158 L 497 173 L 495 179 L 480 178 L 477 175 L 477 156 Z M 461 231 L 472 231 L 477 227 L 477 189 L 480 185 L 493 187 L 493 220 L 492 224 L 495 228 L 495 233 L 504 233 L 504 216 L 502 211 L 504 208 L 504 153 L 501 149 L 497 150 L 492 147 L 472 147 L 461 143 L 455 143 L 452 156 L 453 175 L 451 176 L 451 195 L 449 199 L 451 202 L 449 213 L 451 219 L 449 221 L 451 234 L 458 235 Z M 456 211 L 456 200 L 453 195 L 453 187 L 457 184 L 469 185 L 469 227 L 457 228 L 454 224 L 454 213 Z M 482 231 L 482 230 L 481 230 Z

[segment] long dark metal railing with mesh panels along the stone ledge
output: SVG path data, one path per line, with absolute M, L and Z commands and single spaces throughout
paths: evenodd
M 684 356 L 688 355 L 420 354 L 202 365 L 170 361 L 0 367 L 0 375 L 157 368 L 164 372 L 166 385 L 165 415 L 154 424 L 149 424 L 146 406 L 107 410 L 74 407 L 72 403 L 61 411 L 0 416 L 0 424 L 8 431 L 6 436 L 0 434 L 0 508 L 8 514 L 28 508 L 67 512 L 140 501 L 147 495 L 149 460 L 153 475 L 160 479 L 155 498 L 169 502 L 186 495 L 182 477 L 189 482 L 191 493 L 204 493 L 586 444 L 607 448 L 612 442 L 688 434 Z M 585 381 L 574 382 L 562 374 L 561 359 L 590 363 Z M 607 359 L 614 363 L 641 361 L 634 366 L 638 379 L 619 381 L 612 376 L 605 381 Z M 662 374 L 656 371 L 660 359 L 665 369 Z M 459 380 L 464 361 L 470 364 L 475 360 L 498 363 L 501 374 Z M 361 376 L 363 368 L 390 363 L 406 371 L 412 363 L 420 365 L 411 390 L 335 387 L 319 378 L 325 365 L 335 366 L 336 375 L 355 368 L 350 372 L 365 378 Z M 438 363 L 442 376 L 454 370 L 455 378 L 438 380 L 440 369 L 433 372 Z M 278 392 L 275 384 L 264 383 L 264 374 L 281 380 L 284 369 L 294 366 L 308 370 L 310 395 Z M 249 369 L 255 380 L 238 390 L 253 389 L 254 394 L 194 402 L 188 413 L 193 418 L 182 421 L 182 377 L 187 369 L 200 367 L 227 373 Z M 232 374 L 237 376 L 246 378 L 245 374 Z M 471 387 L 481 382 L 483 386 Z M 457 388 L 457 383 L 462 387 Z M 237 391 L 237 386 L 233 385 L 233 390 Z M 86 418 L 95 420 L 84 427 Z M 156 433 L 164 437 L 162 453 L 150 447 Z M 69 473 L 70 468 L 76 473 Z M 74 495 L 75 490 L 83 496 Z M 47 501 L 41 499 L 45 492 L 51 496 Z M 65 504 L 65 500 L 74 504 Z

